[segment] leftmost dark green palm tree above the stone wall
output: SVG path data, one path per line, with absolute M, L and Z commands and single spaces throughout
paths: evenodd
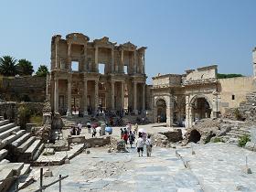
M 0 73 L 4 76 L 16 76 L 16 59 L 11 56 L 0 58 Z

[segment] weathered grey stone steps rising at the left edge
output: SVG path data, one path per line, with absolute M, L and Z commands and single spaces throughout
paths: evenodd
M 16 176 L 26 175 L 43 149 L 41 140 L 0 116 L 0 191 L 7 191 Z

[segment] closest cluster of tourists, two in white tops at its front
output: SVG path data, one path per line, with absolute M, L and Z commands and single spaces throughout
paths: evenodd
M 131 148 L 133 146 L 133 143 L 135 141 L 135 135 L 137 134 L 138 131 L 138 124 L 135 124 L 134 130 L 132 131 L 132 124 L 128 123 L 125 128 L 121 128 L 121 139 L 123 139 L 125 144 L 131 144 Z M 152 153 L 152 147 L 153 143 L 151 140 L 151 135 L 144 133 L 144 132 L 139 132 L 138 133 L 138 139 L 136 140 L 136 148 L 139 156 L 143 156 L 144 153 L 144 146 L 146 147 L 146 155 L 151 156 Z

